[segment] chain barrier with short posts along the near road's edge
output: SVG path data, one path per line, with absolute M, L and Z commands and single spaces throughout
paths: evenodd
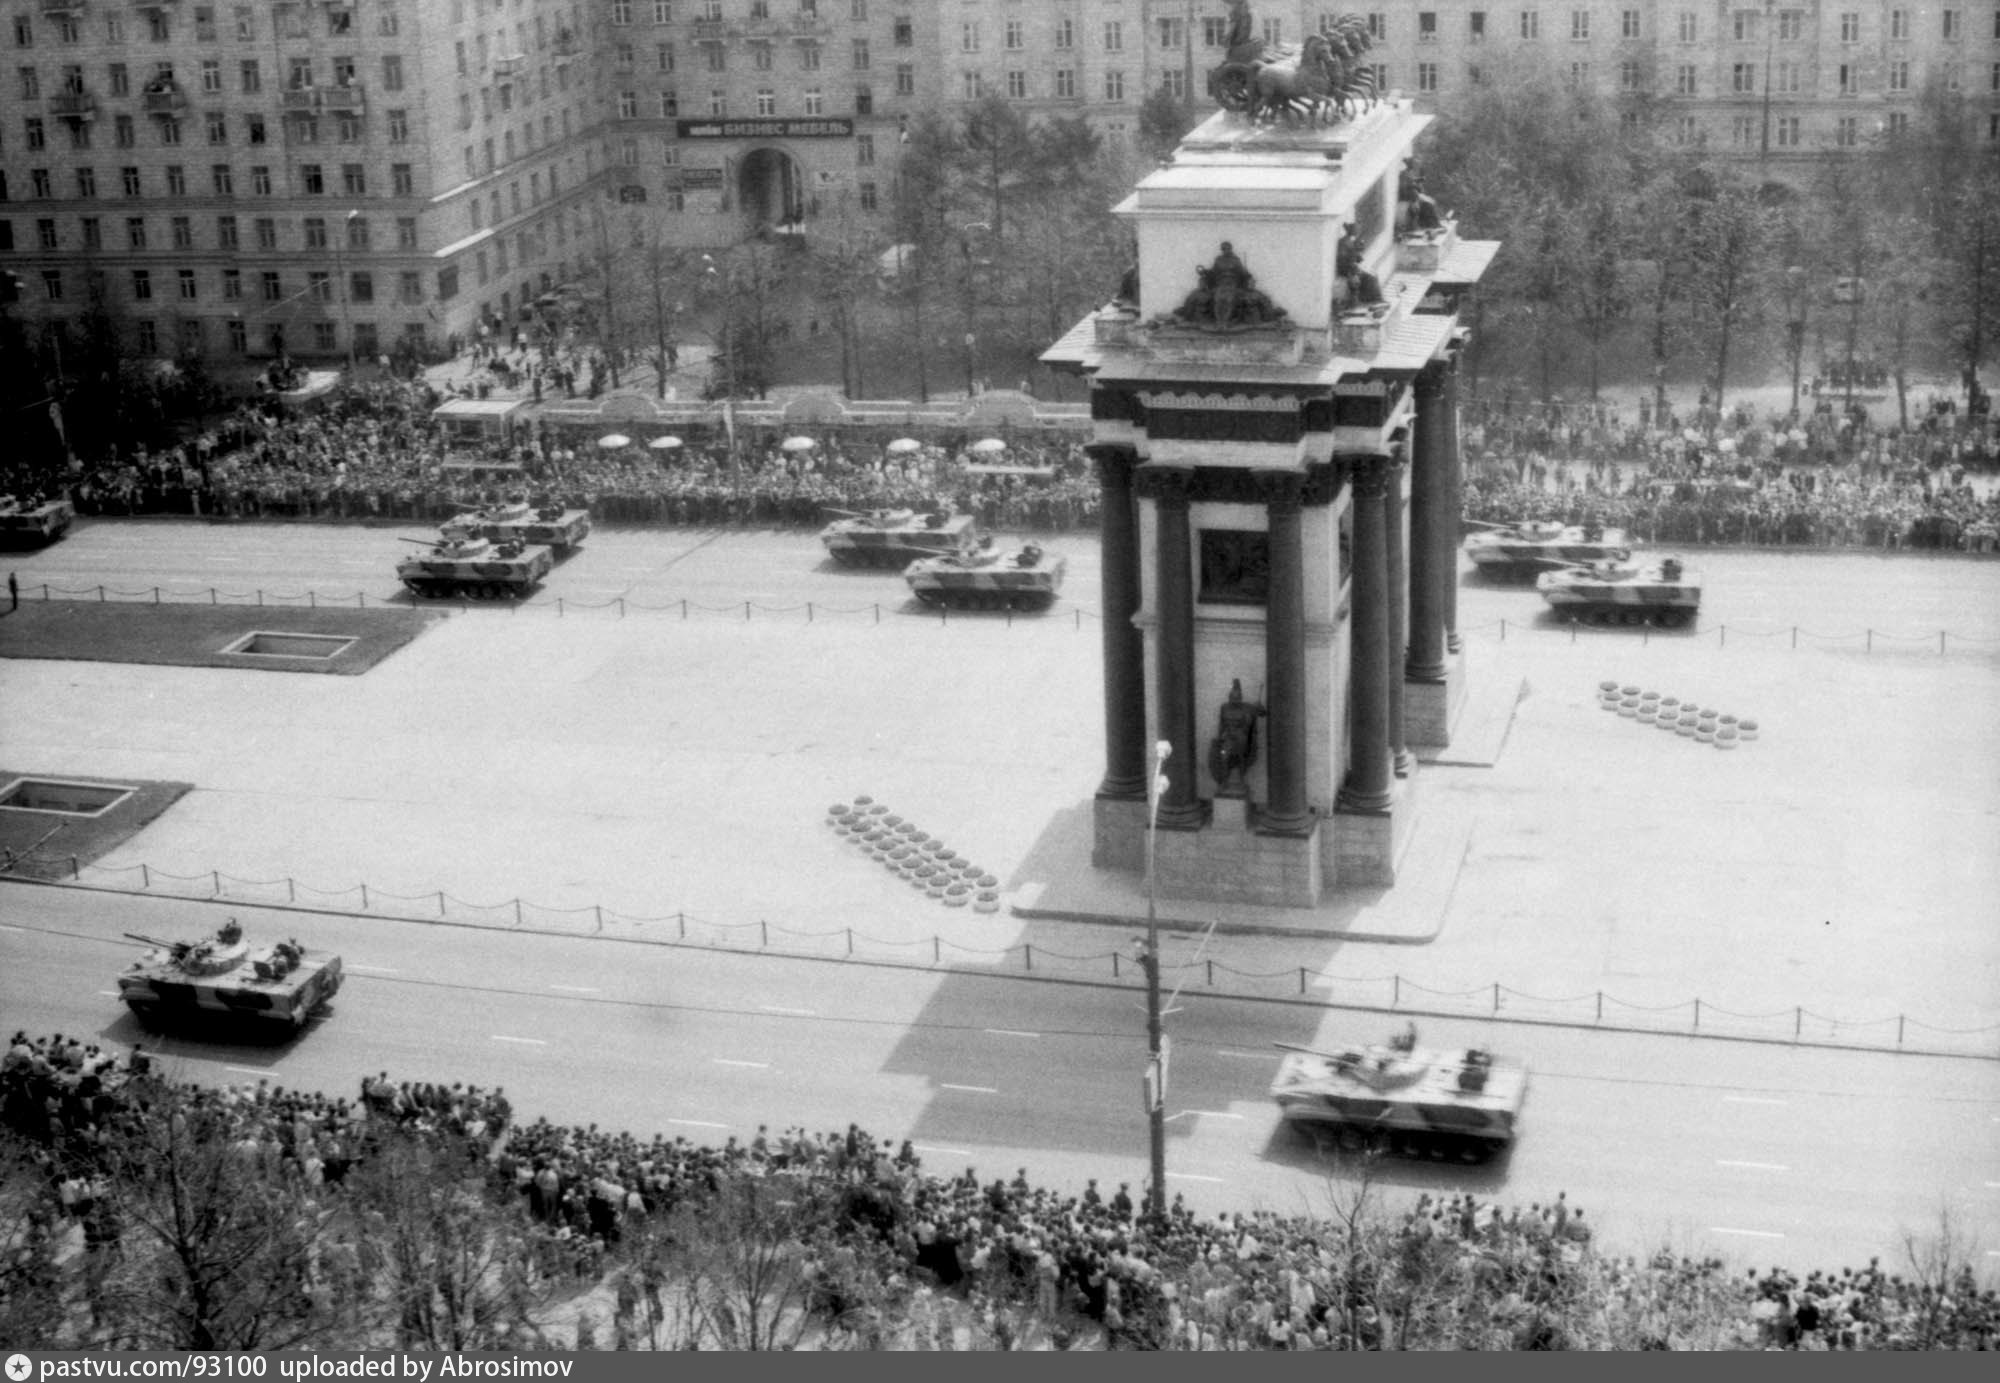
M 28 871 L 28 865 L 34 865 L 36 871 Z M 74 855 L 18 855 L 0 859 L 0 877 L 10 875 L 58 887 L 342 913 L 386 921 L 572 935 L 706 951 L 746 951 L 788 959 L 862 961 L 910 969 L 1018 975 L 1070 983 L 1144 985 L 1144 969 L 1136 949 L 1070 951 L 1034 941 L 1008 947 L 974 947 L 936 931 L 928 937 L 896 939 L 872 935 L 862 927 L 808 931 L 770 919 L 728 923 L 686 911 L 642 917 L 598 903 L 548 907 L 520 897 L 498 903 L 476 903 L 454 897 L 444 889 L 394 893 L 370 887 L 368 883 L 328 889 L 292 877 L 242 879 L 220 869 L 172 873 L 150 863 L 92 865 L 80 863 Z M 1078 933 L 1082 931 L 1078 927 Z M 1242 969 L 1216 957 L 1196 957 L 1180 967 L 1162 965 L 1162 983 L 1216 997 L 1290 999 L 1324 1007 L 1416 1017 L 1462 1017 L 1550 1027 L 1590 1027 L 1618 1033 L 1678 1033 L 1702 1039 L 2000 1059 L 2000 1023 L 1944 1027 L 1908 1013 L 1856 1019 L 1818 1013 L 1804 1005 L 1738 1011 L 1700 997 L 1678 1003 L 1632 1003 L 1604 989 L 1538 995 L 1504 983 L 1488 983 L 1472 989 L 1434 989 L 1400 973 L 1324 975 L 1310 965 Z

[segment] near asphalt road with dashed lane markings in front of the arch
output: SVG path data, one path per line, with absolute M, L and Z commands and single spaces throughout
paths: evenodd
M 122 931 L 216 921 L 192 901 L 8 887 L 8 1027 L 132 1041 L 112 977 Z M 282 1047 L 170 1037 L 196 1081 L 268 1077 L 354 1093 L 358 1077 L 506 1087 L 524 1115 L 748 1139 L 760 1123 L 910 1137 L 938 1171 L 1028 1167 L 1106 1185 L 1146 1175 L 1136 989 L 1042 983 L 618 941 L 250 913 L 346 957 L 330 1015 Z M 1352 1165 L 1286 1131 L 1266 1097 L 1274 1041 L 1374 1037 L 1380 1019 L 1182 995 L 1168 1177 L 1202 1211 L 1328 1211 Z M 1426 1043 L 1502 1045 L 1530 1065 L 1524 1135 L 1478 1169 L 1390 1161 L 1418 1189 L 1502 1203 L 1564 1191 L 1610 1247 L 1838 1267 L 1904 1235 L 1994 1241 L 2000 1067 L 1988 1061 L 1738 1047 L 1678 1037 L 1430 1021 Z

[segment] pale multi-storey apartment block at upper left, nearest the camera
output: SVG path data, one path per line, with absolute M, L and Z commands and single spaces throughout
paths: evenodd
M 582 0 L 14 0 L 0 268 L 142 356 L 374 358 L 566 278 L 602 182 Z

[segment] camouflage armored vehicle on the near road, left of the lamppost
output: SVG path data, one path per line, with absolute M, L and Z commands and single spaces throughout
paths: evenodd
M 152 947 L 118 975 L 118 997 L 148 1027 L 208 1019 L 284 1035 L 340 991 L 338 955 L 298 941 L 252 947 L 234 917 L 200 941 L 126 935 Z

